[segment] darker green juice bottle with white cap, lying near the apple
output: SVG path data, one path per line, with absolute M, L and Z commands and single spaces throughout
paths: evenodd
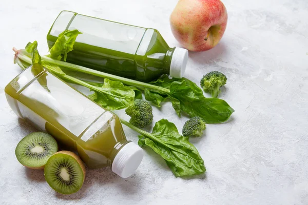
M 181 78 L 188 51 L 170 48 L 156 29 L 62 11 L 47 35 L 51 48 L 60 33 L 78 29 L 67 62 L 106 73 L 149 82 L 162 74 Z

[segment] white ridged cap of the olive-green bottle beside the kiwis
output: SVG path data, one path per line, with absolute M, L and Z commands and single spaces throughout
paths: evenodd
M 132 175 L 140 165 L 143 158 L 143 150 L 134 144 L 128 142 L 124 147 L 115 155 L 111 170 L 122 178 L 127 178 Z

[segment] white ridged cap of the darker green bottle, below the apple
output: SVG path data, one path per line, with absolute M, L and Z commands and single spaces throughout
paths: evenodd
M 175 48 L 170 64 L 170 77 L 181 78 L 184 75 L 188 60 L 188 51 L 183 48 Z

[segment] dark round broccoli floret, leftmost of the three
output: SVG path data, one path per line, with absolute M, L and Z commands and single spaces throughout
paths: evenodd
M 153 113 L 150 104 L 142 99 L 136 99 L 132 105 L 126 108 L 125 112 L 131 116 L 130 124 L 144 128 L 152 123 Z

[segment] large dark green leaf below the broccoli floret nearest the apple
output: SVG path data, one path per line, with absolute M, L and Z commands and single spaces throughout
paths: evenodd
M 202 92 L 202 91 L 201 91 Z M 175 81 L 170 86 L 172 97 L 180 101 L 181 110 L 191 117 L 199 116 L 208 124 L 226 121 L 234 110 L 219 98 L 206 98 L 187 80 Z

